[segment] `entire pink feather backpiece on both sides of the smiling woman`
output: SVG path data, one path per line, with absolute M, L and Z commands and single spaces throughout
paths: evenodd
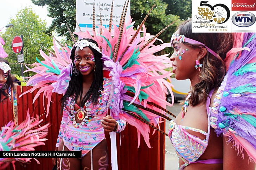
M 173 23 L 152 36 L 146 33 L 144 25 L 151 12 L 149 11 L 138 29 L 134 30 L 134 22 L 131 18 L 128 18 L 126 23 L 124 22 L 128 3 L 126 2 L 123 7 L 119 26 L 113 25 L 114 32 L 111 32 L 111 12 L 109 29 L 98 25 L 100 29 L 97 32 L 95 31 L 96 26 L 93 24 L 93 35 L 90 35 L 89 31 L 75 34 L 79 38 L 93 39 L 98 43 L 102 53 L 103 70 L 109 72 L 112 80 L 107 107 L 110 108 L 113 116 L 119 116 L 135 126 L 138 130 L 138 137 L 140 138 L 140 134 L 142 134 L 148 147 L 150 147 L 149 126 L 159 130 L 157 126 L 160 117 L 171 120 L 165 115 L 165 113 L 169 113 L 165 108 L 166 105 L 172 106 L 165 101 L 166 94 L 168 94 L 167 88 L 172 94 L 171 83 L 166 81 L 166 79 L 170 79 L 172 73 L 165 70 L 172 67 L 171 61 L 167 57 L 169 54 L 154 55 L 154 53 L 170 47 L 171 43 L 162 43 L 161 45 L 154 45 L 153 43 L 159 40 L 157 39 L 158 36 Z M 111 9 L 111 11 L 113 10 Z M 70 29 L 69 32 L 75 43 L 76 40 Z M 34 87 L 26 93 L 40 88 L 34 101 L 43 92 L 44 97 L 48 98 L 47 113 L 49 112 L 52 93 L 63 94 L 69 85 L 71 74 L 70 48 L 61 46 L 62 50 L 58 50 L 54 43 L 55 54 L 47 49 L 49 56 L 40 50 L 40 54 L 45 60 L 37 60 L 38 63 L 34 63 L 36 67 L 28 69 L 37 74 L 27 82 L 27 85 L 31 84 Z M 164 131 L 161 132 L 165 134 Z

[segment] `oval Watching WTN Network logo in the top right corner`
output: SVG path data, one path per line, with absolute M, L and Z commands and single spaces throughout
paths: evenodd
M 232 22 L 238 27 L 249 27 L 255 23 L 255 15 L 247 11 L 237 12 L 232 16 Z

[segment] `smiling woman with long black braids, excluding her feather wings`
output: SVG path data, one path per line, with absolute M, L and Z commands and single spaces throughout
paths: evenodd
M 56 150 L 81 150 L 82 158 L 58 158 L 59 169 L 108 169 L 104 131 L 120 132 L 126 123 L 108 115 L 111 79 L 103 77 L 96 41 L 83 39 L 71 49 L 70 81 L 62 98 L 63 118 Z M 107 115 L 107 116 L 106 116 Z M 53 158 L 55 165 L 56 158 Z

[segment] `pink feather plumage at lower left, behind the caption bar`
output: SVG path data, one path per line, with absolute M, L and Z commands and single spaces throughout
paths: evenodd
M 43 119 L 39 120 L 39 116 L 31 118 L 27 112 L 26 120 L 19 125 L 15 124 L 10 121 L 1 128 L 0 151 L 34 151 L 35 147 L 44 145 L 50 123 L 43 123 Z M 0 158 L 0 169 L 6 168 L 10 163 L 15 169 L 16 161 L 30 162 L 30 159 L 32 158 Z M 37 163 L 40 164 L 38 161 Z

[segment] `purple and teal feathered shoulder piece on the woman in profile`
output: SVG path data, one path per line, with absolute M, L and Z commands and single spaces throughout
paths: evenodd
M 226 136 L 239 152 L 256 162 L 256 38 L 237 33 L 235 48 L 228 55 L 228 71 L 219 87 L 211 114 L 211 126 Z M 242 39 L 241 39 L 242 37 Z

